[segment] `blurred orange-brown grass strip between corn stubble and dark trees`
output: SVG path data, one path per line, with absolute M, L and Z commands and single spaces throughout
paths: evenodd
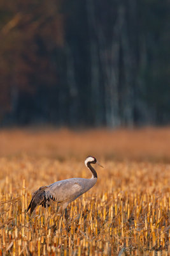
M 68 131 L 9 129 L 0 131 L 0 156 L 74 157 L 89 154 L 107 160 L 131 159 L 170 163 L 170 127 L 136 130 Z

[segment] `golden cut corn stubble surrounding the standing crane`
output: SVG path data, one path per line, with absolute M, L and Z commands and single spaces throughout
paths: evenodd
M 101 161 L 101 159 L 100 159 Z M 101 161 L 96 186 L 67 207 L 26 213 L 32 191 L 90 177 L 83 163 L 0 159 L 0 255 L 168 255 L 169 164 Z

